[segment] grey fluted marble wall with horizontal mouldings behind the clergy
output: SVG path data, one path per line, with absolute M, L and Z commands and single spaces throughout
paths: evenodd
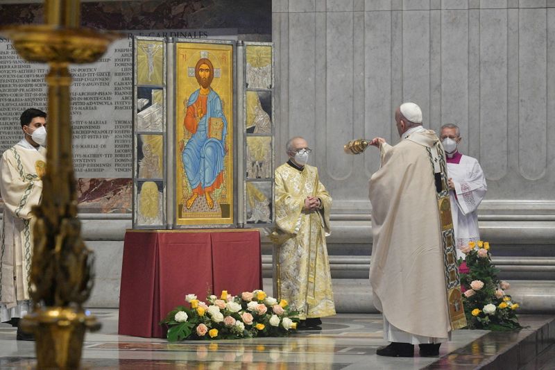
M 398 142 L 393 111 L 414 101 L 425 126 L 458 124 L 461 151 L 481 163 L 481 237 L 512 293 L 555 310 L 555 1 L 275 0 L 272 15 L 278 148 L 293 135 L 314 148 L 334 199 L 336 301 L 364 297 L 343 309 L 372 310 L 368 178 L 379 167 L 375 148 L 352 156 L 343 144 Z

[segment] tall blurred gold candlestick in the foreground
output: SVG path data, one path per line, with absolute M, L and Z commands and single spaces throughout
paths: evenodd
M 123 35 L 79 28 L 79 0 L 45 0 L 44 6 L 45 24 L 0 28 L 22 58 L 50 67 L 46 174 L 42 203 L 33 210 L 33 312 L 21 325 L 35 334 L 37 369 L 76 369 L 85 330 L 98 330 L 100 323 L 82 307 L 92 291 L 94 256 L 77 219 L 68 65 L 94 62 Z

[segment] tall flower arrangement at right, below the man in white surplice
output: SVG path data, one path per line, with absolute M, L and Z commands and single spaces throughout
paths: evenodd
M 461 249 L 459 258 L 461 291 L 469 329 L 516 330 L 522 328 L 515 310 L 519 308 L 506 290 L 511 287 L 497 278 L 499 269 L 491 263 L 490 245 L 479 240 Z

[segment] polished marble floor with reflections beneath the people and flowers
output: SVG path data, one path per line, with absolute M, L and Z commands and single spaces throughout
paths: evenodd
M 452 342 L 441 346 L 438 358 L 382 358 L 375 355 L 376 348 L 386 344 L 379 314 L 338 314 L 325 318 L 320 331 L 300 331 L 285 338 L 172 344 L 117 335 L 117 310 L 92 313 L 103 327 L 85 337 L 85 369 L 496 369 L 492 367 L 496 355 L 526 351 L 524 347 L 511 349 L 510 344 L 520 337 L 532 337 L 545 327 L 545 335 L 539 333 L 548 339 L 555 331 L 555 324 L 546 326 L 555 323 L 554 317 L 522 317 L 529 328 L 520 333 L 457 330 Z M 549 343 L 543 343 L 542 356 L 528 362 L 526 369 L 555 369 L 555 344 Z M 33 342 L 16 341 L 15 328 L 0 324 L 0 369 L 31 369 L 34 364 Z M 517 369 L 511 364 L 504 367 L 513 368 Z

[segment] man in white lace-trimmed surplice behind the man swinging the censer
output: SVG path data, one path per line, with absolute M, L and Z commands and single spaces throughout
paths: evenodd
M 475 242 L 480 238 L 477 209 L 486 195 L 488 185 L 486 185 L 484 171 L 481 170 L 476 158 L 459 152 L 461 132 L 458 126 L 454 124 L 441 126 L 440 139 L 447 157 L 456 255 L 465 258 L 461 248 L 468 245 L 468 242 Z

